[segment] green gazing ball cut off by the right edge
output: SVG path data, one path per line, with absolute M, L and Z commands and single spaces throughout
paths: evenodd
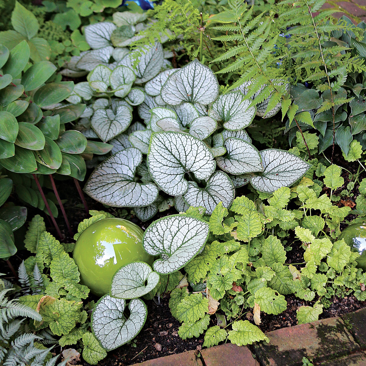
M 366 223 L 348 226 L 338 239 L 344 239 L 352 250 L 360 253 L 360 257 L 356 259 L 357 267 L 366 271 Z

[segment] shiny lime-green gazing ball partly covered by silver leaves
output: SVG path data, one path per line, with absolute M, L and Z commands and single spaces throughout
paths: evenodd
M 152 265 L 153 257 L 142 246 L 143 231 L 124 219 L 103 219 L 87 227 L 76 240 L 73 258 L 81 283 L 93 294 L 109 293 L 116 271 L 133 261 Z

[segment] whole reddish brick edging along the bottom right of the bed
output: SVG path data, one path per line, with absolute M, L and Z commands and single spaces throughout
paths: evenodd
M 366 366 L 366 309 L 266 333 L 269 343 L 187 351 L 132 366 Z

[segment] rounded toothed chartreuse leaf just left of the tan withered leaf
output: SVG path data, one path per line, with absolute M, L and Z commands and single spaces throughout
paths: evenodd
M 202 294 L 186 296 L 177 305 L 177 318 L 182 322 L 195 322 L 208 311 L 208 299 Z

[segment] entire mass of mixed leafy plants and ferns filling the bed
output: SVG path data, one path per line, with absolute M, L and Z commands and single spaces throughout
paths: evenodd
M 1 283 L 0 362 L 63 364 L 75 348 L 97 364 L 142 329 L 144 299 L 169 296 L 178 335 L 204 347 L 266 340 L 261 317 L 288 296 L 306 302 L 299 324 L 335 297 L 365 301 L 360 255 L 339 236 L 366 220 L 366 24 L 320 0 L 124 3 L 3 12 L 0 257 L 27 254 Z M 105 207 L 66 240 L 43 218 L 63 212 L 43 192 L 53 176 Z M 131 215 L 156 260 L 123 266 L 96 299 L 74 242 Z

